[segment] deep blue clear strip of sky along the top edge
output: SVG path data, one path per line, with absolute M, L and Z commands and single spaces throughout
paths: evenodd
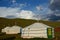
M 0 0 L 0 6 L 2 7 L 9 7 L 13 4 L 13 1 L 18 4 L 24 4 L 27 3 L 27 5 L 31 6 L 37 6 L 42 4 L 49 3 L 49 0 Z

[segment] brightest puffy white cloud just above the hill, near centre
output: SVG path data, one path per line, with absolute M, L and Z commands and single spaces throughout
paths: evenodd
M 33 17 L 34 15 L 35 14 L 32 11 L 27 11 L 27 10 L 22 10 L 19 13 L 19 17 L 24 18 L 24 19 L 34 19 L 34 17 Z

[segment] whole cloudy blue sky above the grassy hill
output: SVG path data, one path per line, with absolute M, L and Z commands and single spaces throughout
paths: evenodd
M 60 21 L 60 1 L 0 0 L 0 17 Z

